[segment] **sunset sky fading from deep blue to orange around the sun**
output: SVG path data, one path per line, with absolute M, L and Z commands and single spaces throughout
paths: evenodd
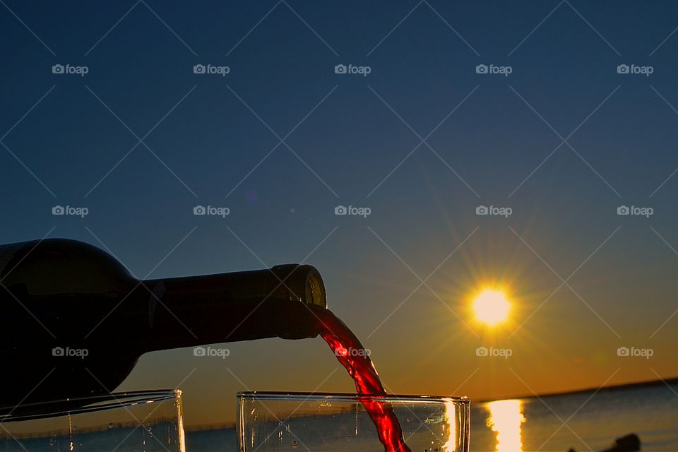
M 311 263 L 392 393 L 678 376 L 678 5 L 0 4 L 0 242 L 136 278 Z M 189 427 L 237 391 L 354 391 L 319 338 L 219 347 L 119 390 L 178 386 Z

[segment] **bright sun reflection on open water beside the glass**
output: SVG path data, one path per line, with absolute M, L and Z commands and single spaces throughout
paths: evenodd
M 521 427 L 525 422 L 521 400 L 497 400 L 487 404 L 487 427 L 496 432 L 496 452 L 522 452 Z

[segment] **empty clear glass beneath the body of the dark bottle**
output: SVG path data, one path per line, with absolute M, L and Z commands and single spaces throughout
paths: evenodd
M 0 412 L 1 451 L 185 450 L 178 390 L 53 400 Z

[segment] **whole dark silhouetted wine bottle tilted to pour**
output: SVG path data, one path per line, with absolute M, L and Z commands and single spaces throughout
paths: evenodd
M 0 414 L 44 400 L 107 395 L 146 352 L 318 334 L 318 270 L 138 280 L 84 242 L 0 246 Z

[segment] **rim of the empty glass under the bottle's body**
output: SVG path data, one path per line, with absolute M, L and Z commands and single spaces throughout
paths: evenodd
M 155 389 L 148 391 L 126 391 L 121 393 L 102 394 L 100 396 L 83 396 L 61 400 L 44 400 L 24 405 L 0 408 L 0 423 L 18 422 L 57 417 L 63 415 L 80 415 L 89 412 L 128 408 L 142 403 L 156 403 L 181 398 L 179 389 Z M 16 412 L 16 414 L 14 414 Z M 5 414 L 7 413 L 7 414 Z

